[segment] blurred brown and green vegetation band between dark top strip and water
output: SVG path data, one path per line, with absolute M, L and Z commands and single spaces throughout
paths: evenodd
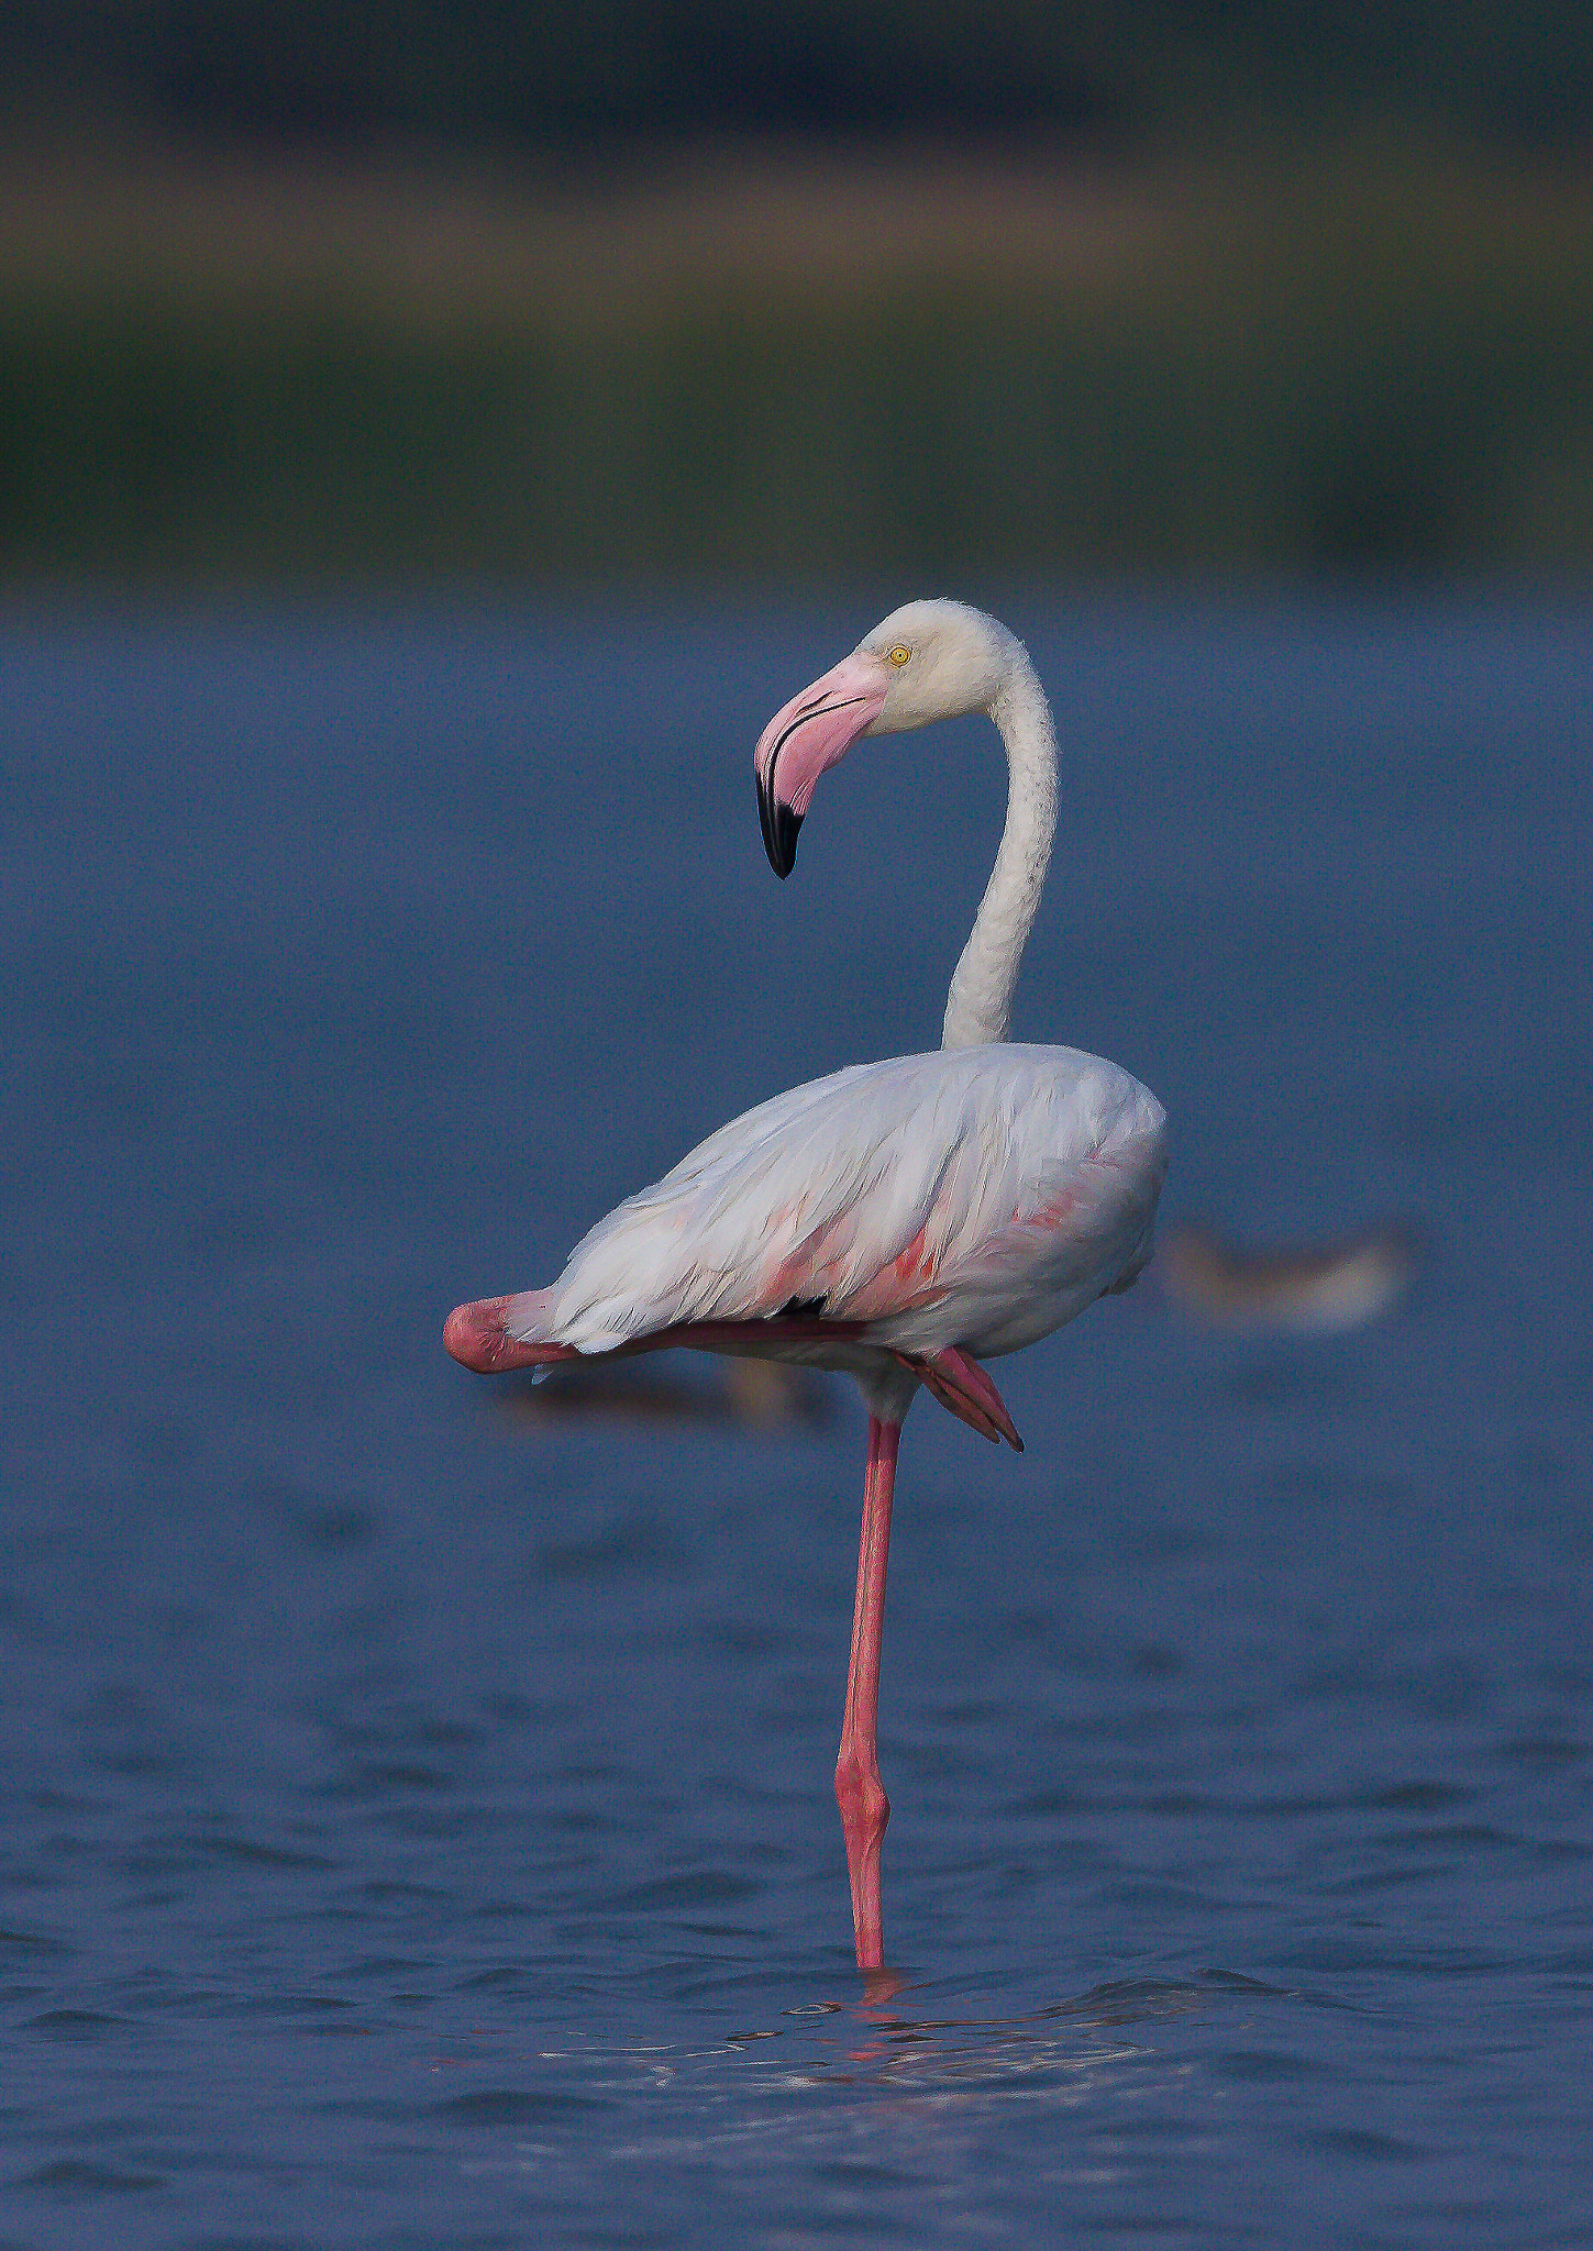
M 911 187 L 14 180 L 0 583 L 1593 563 L 1570 171 Z

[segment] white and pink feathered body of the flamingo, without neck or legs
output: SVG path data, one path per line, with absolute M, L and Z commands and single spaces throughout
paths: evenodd
M 853 1065 L 720 1126 L 504 1308 L 515 1342 L 608 1353 L 659 1328 L 864 1324 L 855 1344 L 1010 1353 L 1150 1256 L 1166 1114 L 1071 1047 Z M 770 1335 L 770 1348 L 778 1337 Z M 824 1362 L 792 1339 L 790 1357 Z

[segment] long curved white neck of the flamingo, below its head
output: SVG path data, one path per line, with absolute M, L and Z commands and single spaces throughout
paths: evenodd
M 940 1047 L 1006 1040 L 1017 966 L 1040 907 L 1058 826 L 1058 738 L 1046 693 L 1019 642 L 1012 642 L 990 718 L 1006 745 L 1006 828 L 963 959 L 952 975 Z

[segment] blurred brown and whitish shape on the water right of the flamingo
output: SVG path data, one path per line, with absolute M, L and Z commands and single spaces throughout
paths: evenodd
M 1426 1252 L 1388 1220 L 1339 1243 L 1240 1249 L 1210 1227 L 1168 1229 L 1154 1274 L 1181 1312 L 1222 1328 L 1325 1337 L 1361 1328 L 1400 1303 Z

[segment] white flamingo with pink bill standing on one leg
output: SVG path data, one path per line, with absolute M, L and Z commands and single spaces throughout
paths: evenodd
M 1008 1044 L 1017 966 L 1058 815 L 1051 709 L 1024 644 L 956 601 L 893 610 L 758 738 L 763 842 L 790 876 L 819 777 L 862 736 L 986 711 L 1008 810 L 952 977 L 940 1051 L 862 1062 L 722 1126 L 576 1245 L 551 1288 L 459 1306 L 466 1369 L 670 1344 L 842 1369 L 868 1409 L 857 1598 L 835 1796 L 857 1965 L 882 1970 L 880 1636 L 902 1418 L 927 1391 L 986 1438 L 1022 1438 L 981 1362 L 1033 1344 L 1152 1252 L 1166 1112 L 1071 1047 Z

